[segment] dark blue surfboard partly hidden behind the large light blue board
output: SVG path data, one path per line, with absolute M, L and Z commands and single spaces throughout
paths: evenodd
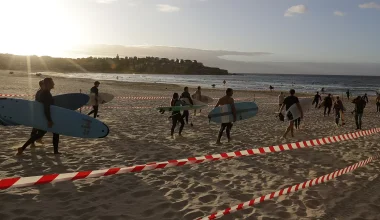
M 54 98 L 55 106 L 70 109 L 70 110 L 77 110 L 78 108 L 86 105 L 87 102 L 90 100 L 90 96 L 83 93 L 68 93 L 68 94 L 53 96 L 53 98 Z M 6 120 L 0 117 L 0 125 L 17 126 L 19 124 L 11 120 Z

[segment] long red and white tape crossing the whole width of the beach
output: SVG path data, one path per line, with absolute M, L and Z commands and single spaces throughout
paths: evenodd
M 249 156 L 254 154 L 265 154 L 265 153 L 273 153 L 273 152 L 281 152 L 285 150 L 295 150 L 299 148 L 306 147 L 315 147 L 329 143 L 340 142 L 344 140 L 352 140 L 362 136 L 368 136 L 374 133 L 380 132 L 380 128 L 374 128 L 366 131 L 358 131 L 354 133 L 338 135 L 333 137 L 320 138 L 310 141 L 300 141 L 296 143 L 283 144 L 278 146 L 270 146 L 270 147 L 261 147 L 257 149 L 249 149 L 243 151 L 235 151 L 229 153 L 221 153 L 214 155 L 206 155 L 201 157 L 190 157 L 187 159 L 180 160 L 168 160 L 164 162 L 153 162 L 144 165 L 134 165 L 130 167 L 116 167 L 104 170 L 94 170 L 94 171 L 79 171 L 73 173 L 63 173 L 63 174 L 47 174 L 42 176 L 33 176 L 33 177 L 13 177 L 13 178 L 5 178 L 0 179 L 0 189 L 7 189 L 12 187 L 27 187 L 33 185 L 41 185 L 46 183 L 55 183 L 62 181 L 74 181 L 78 179 L 85 179 L 91 177 L 101 177 L 101 176 L 109 176 L 115 174 L 123 174 L 123 173 L 134 173 L 141 172 L 146 170 L 156 170 L 170 167 L 179 167 L 187 164 L 198 164 L 205 163 L 209 161 L 215 160 L 223 160 L 223 159 L 231 159 L 238 158 L 242 156 Z

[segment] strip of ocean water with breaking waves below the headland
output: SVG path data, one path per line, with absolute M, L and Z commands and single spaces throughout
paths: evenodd
M 126 82 L 170 83 L 204 88 L 230 87 L 235 90 L 275 90 L 314 93 L 325 89 L 326 93 L 342 94 L 350 89 L 352 95 L 375 95 L 380 89 L 380 76 L 330 76 L 330 75 L 285 75 L 285 74 L 236 74 L 236 75 L 158 75 L 158 74 L 113 74 L 113 73 L 52 73 L 68 78 L 94 80 L 118 80 Z M 223 85 L 226 80 L 226 85 Z

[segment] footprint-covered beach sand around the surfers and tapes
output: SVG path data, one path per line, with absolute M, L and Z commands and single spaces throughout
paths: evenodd
M 0 72 L 2 94 L 34 94 L 43 76 Z M 93 80 L 54 78 L 53 95 L 88 92 Z M 102 81 L 100 92 L 115 96 L 168 96 L 182 87 L 164 84 Z M 194 88 L 190 89 L 193 93 Z M 221 97 L 223 90 L 204 89 L 204 95 Z M 219 126 L 208 122 L 204 109 L 192 116 L 183 137 L 170 138 L 168 113 L 153 107 L 169 105 L 170 99 L 130 100 L 115 98 L 100 107 L 100 120 L 110 128 L 103 139 L 61 136 L 62 156 L 53 154 L 51 134 L 45 144 L 27 148 L 21 157 L 16 149 L 29 137 L 31 128 L 0 127 L 0 178 L 124 167 L 169 159 L 231 152 L 282 143 L 344 134 L 355 130 L 353 115 L 346 113 L 346 126 L 336 127 L 334 116 L 322 110 L 305 113 L 294 138 L 281 136 L 286 123 L 274 112 L 278 92 L 235 91 L 234 97 L 253 101 L 259 114 L 236 123 L 231 143 L 215 145 Z M 344 101 L 348 110 L 353 104 Z M 215 104 L 215 103 L 214 103 Z M 106 108 L 119 106 L 123 108 Z M 152 108 L 130 108 L 152 107 Z M 374 97 L 365 110 L 363 129 L 379 126 Z M 87 113 L 90 109 L 84 109 Z M 254 155 L 134 174 L 89 178 L 0 191 L 0 219 L 195 219 L 214 211 L 345 168 L 378 153 L 379 135 L 321 147 Z M 345 174 L 325 184 L 266 201 L 222 219 L 380 219 L 380 163 Z

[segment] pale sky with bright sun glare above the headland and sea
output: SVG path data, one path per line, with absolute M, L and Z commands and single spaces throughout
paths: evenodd
M 380 0 L 0 0 L 0 52 L 82 44 L 264 52 L 257 62 L 380 63 Z

